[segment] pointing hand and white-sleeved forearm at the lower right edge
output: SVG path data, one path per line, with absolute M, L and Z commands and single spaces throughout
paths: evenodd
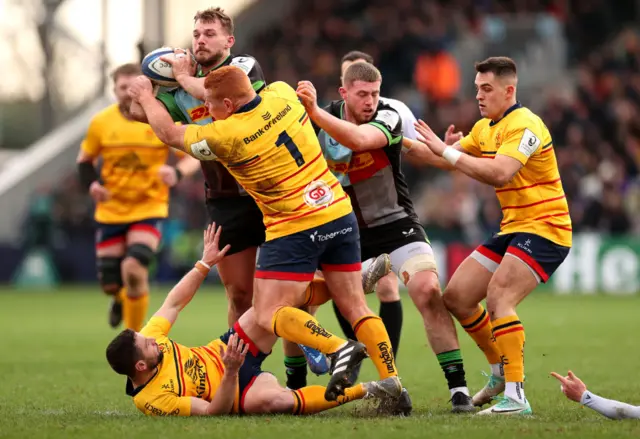
M 566 377 L 556 372 L 551 372 L 551 376 L 562 383 L 560 389 L 571 401 L 579 402 L 610 419 L 640 419 L 640 406 L 606 399 L 591 393 L 587 390 L 585 383 L 571 371 Z

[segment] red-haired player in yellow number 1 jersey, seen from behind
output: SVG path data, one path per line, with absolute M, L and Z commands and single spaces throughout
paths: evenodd
M 234 66 L 209 73 L 205 87 L 205 105 L 215 120 L 205 126 L 174 125 L 145 77 L 130 92 L 160 139 L 200 160 L 219 160 L 256 200 L 266 228 L 254 285 L 258 325 L 331 356 L 327 400 L 352 384 L 349 375 L 367 353 L 381 379 L 395 377 L 399 396 L 389 336 L 364 300 L 353 208 L 295 91 L 276 82 L 257 95 Z M 318 268 L 364 345 L 331 334 L 296 308 Z

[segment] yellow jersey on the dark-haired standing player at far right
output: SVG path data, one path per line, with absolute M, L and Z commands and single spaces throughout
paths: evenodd
M 503 215 L 501 234 L 533 233 L 571 246 L 569 206 L 551 134 L 540 117 L 518 103 L 495 123 L 486 118 L 478 121 L 460 144 L 476 157 L 501 154 L 523 165 L 512 181 L 496 188 Z

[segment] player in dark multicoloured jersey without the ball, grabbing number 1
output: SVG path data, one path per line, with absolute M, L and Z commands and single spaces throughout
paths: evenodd
M 319 129 L 330 169 L 353 203 L 362 260 L 380 253 L 391 256 L 393 271 L 424 319 L 429 344 L 449 384 L 453 411 L 473 411 L 455 326 L 440 293 L 433 249 L 400 170 L 402 118 L 379 102 L 381 83 L 375 66 L 356 62 L 344 72 L 343 99 L 325 110 L 318 107 L 310 82 L 301 81 L 297 92 Z

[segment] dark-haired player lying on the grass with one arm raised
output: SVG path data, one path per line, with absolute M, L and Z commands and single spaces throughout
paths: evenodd
M 302 415 L 365 397 L 384 400 L 395 393 L 395 378 L 346 388 L 343 396 L 331 402 L 324 398 L 323 386 L 295 391 L 281 387 L 273 375 L 261 369 L 277 337 L 256 324 L 253 308 L 227 333 L 205 346 L 188 348 L 170 339 L 168 334 L 178 314 L 196 294 L 210 268 L 229 250 L 228 245 L 218 248 L 220 231 L 215 223 L 205 230 L 202 259 L 169 292 L 142 331 L 126 329 L 107 347 L 107 361 L 114 371 L 128 377 L 126 392 L 140 411 L 157 416 Z

